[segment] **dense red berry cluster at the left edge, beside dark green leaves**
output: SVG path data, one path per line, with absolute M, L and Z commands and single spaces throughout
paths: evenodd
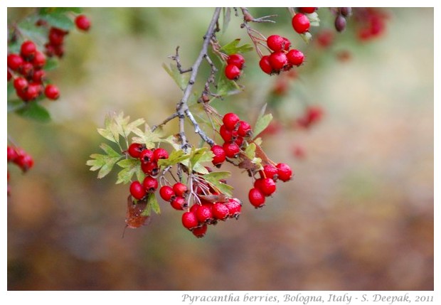
M 35 100 L 43 95 L 43 92 L 51 100 L 60 96 L 55 85 L 43 85 L 46 77 L 43 69 L 45 64 L 46 56 L 37 50 L 32 41 L 24 41 L 21 44 L 20 54 L 8 55 L 8 81 L 14 78 L 16 94 L 24 102 Z

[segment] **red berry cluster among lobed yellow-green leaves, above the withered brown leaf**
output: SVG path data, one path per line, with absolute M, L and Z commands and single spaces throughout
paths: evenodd
M 156 176 L 159 174 L 158 161 L 168 159 L 169 153 L 165 149 L 147 149 L 144 145 L 132 143 L 127 149 L 127 154 L 141 161 L 142 171 L 147 175 L 144 181 L 133 181 L 130 184 L 130 193 L 137 200 L 144 200 L 149 193 L 154 193 L 158 188 Z

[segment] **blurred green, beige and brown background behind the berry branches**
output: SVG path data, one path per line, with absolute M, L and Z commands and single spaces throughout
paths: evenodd
M 9 21 L 30 11 L 9 8 Z M 85 9 L 91 31 L 70 33 L 51 72 L 62 95 L 45 104 L 53 122 L 8 116 L 8 134 L 36 160 L 25 175 L 9 168 L 8 289 L 433 289 L 433 9 L 386 11 L 381 37 L 362 43 L 348 29 L 319 49 L 305 47 L 286 10 L 251 10 L 279 14 L 255 28 L 287 36 L 307 63 L 274 97 L 279 80 L 247 53 L 246 91 L 215 106 L 253 122 L 271 102 L 285 128 L 264 148 L 295 176 L 255 210 L 249 178 L 226 165 L 242 215 L 196 239 L 164 202 L 122 238 L 128 186 L 115 185 L 115 174 L 97 179 L 85 162 L 99 152 L 107 112 L 156 124 L 173 111 L 180 92 L 161 63 L 176 46 L 184 66 L 193 63 L 213 9 Z M 319 14 L 332 28 L 329 11 Z M 249 43 L 239 25 L 232 16 L 221 43 Z M 322 107 L 323 119 L 292 128 L 306 104 Z

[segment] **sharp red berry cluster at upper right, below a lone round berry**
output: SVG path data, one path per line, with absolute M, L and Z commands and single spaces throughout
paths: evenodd
M 300 50 L 292 49 L 291 42 L 282 36 L 272 35 L 267 38 L 267 46 L 272 50 L 270 55 L 260 58 L 260 69 L 267 74 L 278 74 L 292 67 L 302 65 L 304 55 Z

